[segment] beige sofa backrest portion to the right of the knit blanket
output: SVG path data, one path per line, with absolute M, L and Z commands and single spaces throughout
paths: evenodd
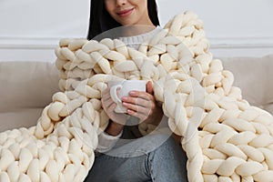
M 273 114 L 273 55 L 264 57 L 221 58 L 234 77 L 234 86 L 242 90 L 249 104 Z

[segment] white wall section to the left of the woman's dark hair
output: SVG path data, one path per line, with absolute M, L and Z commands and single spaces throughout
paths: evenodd
M 55 61 L 61 37 L 86 37 L 89 0 L 0 0 L 0 61 Z

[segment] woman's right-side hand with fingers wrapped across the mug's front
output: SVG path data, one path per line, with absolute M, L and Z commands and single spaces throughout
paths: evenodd
M 123 106 L 127 107 L 127 114 L 136 116 L 140 122 L 158 125 L 163 116 L 162 109 L 157 106 L 151 82 L 147 82 L 147 92 L 132 91 L 129 96 L 122 97 Z

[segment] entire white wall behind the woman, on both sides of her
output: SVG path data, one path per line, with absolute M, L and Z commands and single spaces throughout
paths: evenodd
M 157 0 L 161 25 L 194 11 L 214 56 L 273 54 L 272 0 Z M 56 59 L 62 37 L 86 37 L 89 0 L 0 0 L 0 61 Z

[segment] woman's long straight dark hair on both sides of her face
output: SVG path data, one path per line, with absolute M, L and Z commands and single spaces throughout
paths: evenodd
M 91 0 L 87 35 L 88 40 L 107 30 L 121 26 L 111 15 L 108 14 L 104 1 L 105 0 Z M 153 25 L 160 25 L 157 15 L 156 0 L 147 0 L 147 9 Z

